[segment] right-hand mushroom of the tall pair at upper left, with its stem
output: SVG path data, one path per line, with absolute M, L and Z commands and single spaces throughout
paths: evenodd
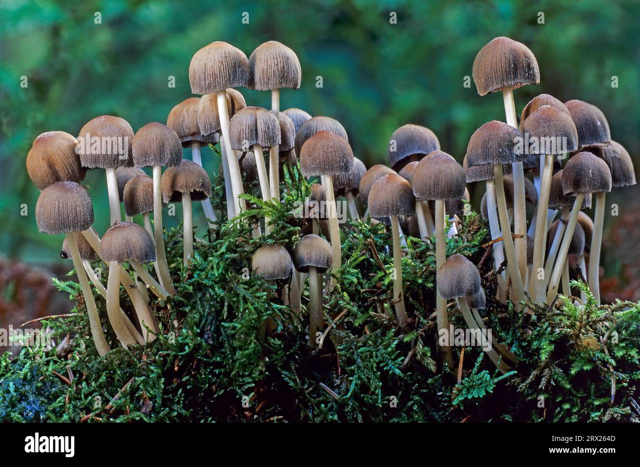
M 300 61 L 296 53 L 284 44 L 270 40 L 261 44 L 249 56 L 247 87 L 271 91 L 271 111 L 280 118 L 280 89 L 299 89 L 302 79 Z M 269 150 L 269 187 L 271 196 L 280 201 L 280 150 L 277 145 Z M 291 149 L 291 148 L 289 148 Z

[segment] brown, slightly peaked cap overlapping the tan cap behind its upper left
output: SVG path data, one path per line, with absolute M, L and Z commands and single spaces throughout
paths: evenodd
M 411 184 L 397 173 L 387 173 L 378 178 L 369 191 L 367 205 L 372 218 L 415 214 Z

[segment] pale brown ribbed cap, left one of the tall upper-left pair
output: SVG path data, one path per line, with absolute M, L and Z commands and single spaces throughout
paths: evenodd
M 246 88 L 249 59 L 227 42 L 216 41 L 193 54 L 189 83 L 194 94 L 215 94 L 227 88 Z

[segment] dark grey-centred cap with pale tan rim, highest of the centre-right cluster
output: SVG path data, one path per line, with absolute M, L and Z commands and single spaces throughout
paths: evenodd
M 395 141 L 395 145 L 392 144 Z M 393 150 L 392 150 L 393 149 Z M 400 169 L 403 159 L 410 155 L 424 157 L 433 151 L 440 150 L 440 141 L 435 133 L 426 127 L 408 123 L 393 132 L 387 146 L 389 165 Z

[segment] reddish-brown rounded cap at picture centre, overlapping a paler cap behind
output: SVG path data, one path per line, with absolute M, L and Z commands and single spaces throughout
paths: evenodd
M 300 171 L 305 177 L 348 174 L 353 170 L 353 152 L 346 139 L 330 131 L 319 131 L 305 141 L 300 151 Z

